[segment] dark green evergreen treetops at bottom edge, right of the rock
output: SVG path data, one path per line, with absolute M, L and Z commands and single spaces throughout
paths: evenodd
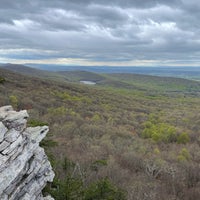
M 126 200 L 127 194 L 115 186 L 108 178 L 103 178 L 84 186 L 80 178 L 65 176 L 63 180 L 54 179 L 44 194 L 51 194 L 56 200 Z

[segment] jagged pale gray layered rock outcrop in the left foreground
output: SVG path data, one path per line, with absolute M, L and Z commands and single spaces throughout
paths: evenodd
M 47 200 L 42 189 L 54 172 L 39 142 L 48 127 L 26 128 L 28 113 L 0 107 L 0 199 Z

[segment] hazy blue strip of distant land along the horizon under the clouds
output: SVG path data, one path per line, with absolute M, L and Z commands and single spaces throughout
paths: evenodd
M 89 71 L 93 73 L 126 73 L 144 74 L 163 77 L 180 77 L 200 80 L 200 67 L 108 67 L 108 66 L 66 66 L 66 65 L 35 65 L 37 69 L 48 71 Z

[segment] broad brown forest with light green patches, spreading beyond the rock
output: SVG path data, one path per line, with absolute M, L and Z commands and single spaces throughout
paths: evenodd
M 91 194 L 91 184 L 107 177 L 114 184 L 110 189 L 118 194 L 116 187 L 122 188 L 130 200 L 198 199 L 199 84 L 152 76 L 103 76 L 101 84 L 86 86 L 0 69 L 5 79 L 0 106 L 27 109 L 30 125 L 48 123 L 50 134 L 43 145 L 56 171 L 54 187 L 74 183 L 75 194 L 83 186 Z M 59 197 L 51 187 L 46 190 L 65 198 L 64 192 Z

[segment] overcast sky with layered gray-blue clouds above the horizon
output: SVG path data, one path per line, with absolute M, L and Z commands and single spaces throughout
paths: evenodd
M 0 0 L 0 63 L 200 66 L 200 0 Z

